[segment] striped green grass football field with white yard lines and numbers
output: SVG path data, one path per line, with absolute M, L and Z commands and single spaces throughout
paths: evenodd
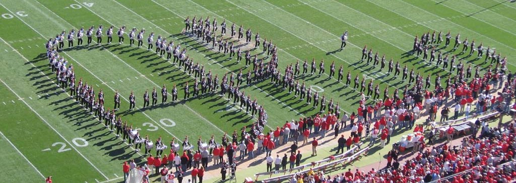
M 392 57 L 395 62 L 399 61 L 401 68 L 405 65 L 409 70 L 414 68 L 425 78 L 438 73 L 455 77 L 456 72 L 442 70 L 408 54 L 415 35 L 433 30 L 446 34 L 450 30 L 451 45 L 455 35 L 460 33 L 461 40 L 475 39 L 476 45 L 483 42 L 485 49 L 490 46 L 502 57 L 507 56 L 509 70 L 516 64 L 512 62 L 516 56 L 516 3 L 504 0 L 0 0 L 0 5 L 1 182 L 43 182 L 43 178 L 50 175 L 54 182 L 120 182 L 123 161 L 146 161 L 142 153 L 136 153 L 71 99 L 68 90 L 63 92 L 56 86 L 44 44 L 62 30 L 68 32 L 72 28 L 100 24 L 104 27 L 125 25 L 126 32 L 132 27 L 145 28 L 144 38 L 154 32 L 173 40 L 176 45 L 183 45 L 195 62 L 221 79 L 227 72 L 236 74 L 243 69 L 247 73 L 245 63 L 236 63 L 236 58 L 229 59 L 214 52 L 209 49 L 211 45 L 205 47 L 181 32 L 187 16 L 209 16 L 212 21 L 217 18 L 219 25 L 225 19 L 228 33 L 232 23 L 244 25 L 245 29 L 252 29 L 253 43 L 254 33 L 260 32 L 262 39 L 277 44 L 278 68 L 282 73 L 296 60 L 315 58 L 318 67 L 319 60 L 324 59 L 324 75 L 303 75 L 297 79 L 326 95 L 327 100 L 333 98 L 340 104 L 341 113 L 356 111 L 360 100 L 359 91 L 344 85 L 348 70 L 352 79 L 356 75 L 360 75 L 361 80 L 362 77 L 368 81 L 374 79 L 375 85 L 380 85 L 380 98 L 385 87 L 389 87 L 392 95 L 395 88 L 407 84 L 400 77 L 386 74 L 386 68 L 379 70 L 361 62 L 364 45 L 380 55 L 386 54 L 387 60 Z M 349 32 L 348 45 L 339 51 L 340 36 L 345 30 Z M 103 39 L 105 43 L 106 37 Z M 112 108 L 112 96 L 118 91 L 122 104 L 117 115 L 140 128 L 142 136 L 149 135 L 153 141 L 162 136 L 168 144 L 172 138 L 183 140 L 188 135 L 190 142 L 196 144 L 199 136 L 207 140 L 213 134 L 220 143 L 224 132 L 231 134 L 256 121 L 245 110 L 217 94 L 142 108 L 145 90 L 156 87 L 159 92 L 166 84 L 170 93 L 172 85 L 176 84 L 179 99 L 182 99 L 184 84 L 193 83 L 195 79 L 153 51 L 131 47 L 127 35 L 123 44 L 116 44 L 116 36 L 113 42 L 86 46 L 85 37 L 83 46 L 68 49 L 65 41 L 67 49 L 60 55 L 73 64 L 77 81 L 83 78 L 96 93 L 103 89 L 106 109 Z M 490 62 L 485 63 L 484 57 L 476 58 L 476 52 L 467 56 L 469 51 L 460 54 L 462 45 L 457 51 L 452 51 L 451 45 L 443 48 L 442 44 L 437 48 L 458 54 L 467 62 L 466 67 L 469 63 L 482 69 L 489 66 Z M 143 47 L 147 47 L 146 41 Z M 263 58 L 266 54 L 261 54 L 261 50 L 252 50 L 252 54 Z M 342 82 L 336 80 L 336 74 L 335 78 L 327 75 L 333 61 L 336 70 L 344 66 Z M 432 85 L 434 78 L 432 76 Z M 298 100 L 269 80 L 241 87 L 241 90 L 264 105 L 268 114 L 266 128 L 276 128 L 286 120 L 319 112 L 318 108 L 312 108 L 311 104 Z M 134 111 L 128 111 L 131 91 L 136 96 Z

